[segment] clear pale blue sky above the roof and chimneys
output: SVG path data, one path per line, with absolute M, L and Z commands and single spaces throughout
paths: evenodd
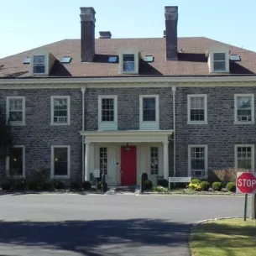
M 0 58 L 80 38 L 80 7 L 97 12 L 96 34 L 162 37 L 165 5 L 179 6 L 178 35 L 206 36 L 256 51 L 255 0 L 1 0 Z

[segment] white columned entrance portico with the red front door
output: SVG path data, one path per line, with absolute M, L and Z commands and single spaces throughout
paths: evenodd
M 141 173 L 149 180 L 169 177 L 172 130 L 84 131 L 85 180 L 93 170 L 105 172 L 109 185 L 136 185 Z

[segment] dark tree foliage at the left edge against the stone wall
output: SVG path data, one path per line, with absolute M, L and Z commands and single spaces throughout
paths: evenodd
M 0 108 L 0 160 L 6 159 L 13 147 L 12 128 Z

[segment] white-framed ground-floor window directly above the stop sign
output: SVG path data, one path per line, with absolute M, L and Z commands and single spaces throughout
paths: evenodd
M 235 168 L 254 171 L 254 145 L 235 145 Z

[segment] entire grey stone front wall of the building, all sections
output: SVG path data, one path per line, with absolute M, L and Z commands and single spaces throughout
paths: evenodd
M 208 146 L 208 169 L 234 167 L 234 145 L 255 144 L 255 124 L 234 124 L 234 94 L 255 95 L 255 87 L 204 86 L 179 87 L 175 92 L 176 175 L 188 175 L 188 145 Z M 207 95 L 207 124 L 187 123 L 187 95 Z M 88 88 L 85 94 L 85 129 L 98 129 L 98 96 L 118 96 L 118 130 L 139 129 L 139 95 L 159 95 L 159 128 L 173 129 L 173 95 L 170 87 Z M 23 96 L 26 101 L 25 126 L 13 127 L 14 144 L 25 146 L 26 177 L 37 168 L 50 172 L 51 145 L 71 146 L 71 180 L 81 180 L 81 112 L 80 89 L 2 90 L 0 106 L 6 97 Z M 50 97 L 71 96 L 71 125 L 50 125 Z M 254 102 L 255 104 L 255 102 Z M 254 107 L 256 109 L 256 107 Z M 173 141 L 169 145 L 170 175 L 173 175 Z M 5 175 L 0 163 L 0 180 Z

